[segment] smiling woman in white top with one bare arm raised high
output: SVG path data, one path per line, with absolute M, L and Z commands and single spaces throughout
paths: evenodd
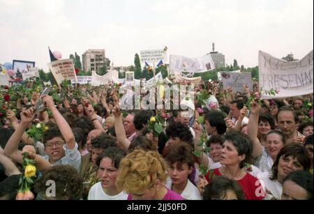
M 285 135 L 279 130 L 269 130 L 270 125 L 259 118 L 260 104 L 254 101 L 251 104 L 248 137 L 252 141 L 252 157 L 255 158 L 255 166 L 261 171 L 271 171 L 279 151 L 285 146 Z M 268 126 L 269 128 L 266 128 Z M 262 131 L 260 127 L 262 127 Z M 260 133 L 263 131 L 267 132 L 264 146 L 262 146 L 260 139 L 257 138 L 259 131 Z

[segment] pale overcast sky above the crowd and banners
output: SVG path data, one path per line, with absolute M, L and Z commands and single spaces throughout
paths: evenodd
M 227 63 L 257 66 L 258 50 L 301 59 L 313 49 L 313 0 L 0 0 L 0 63 L 36 61 L 48 46 L 67 59 L 105 49 L 114 66 L 163 49 L 204 56 L 211 44 Z

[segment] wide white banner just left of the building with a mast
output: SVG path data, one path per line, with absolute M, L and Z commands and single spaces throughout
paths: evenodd
M 200 58 L 170 55 L 170 75 L 176 75 L 181 72 L 207 72 L 214 69 L 214 61 L 211 59 L 210 54 Z

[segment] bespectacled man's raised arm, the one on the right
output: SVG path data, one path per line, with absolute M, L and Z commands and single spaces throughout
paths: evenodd
M 72 150 L 75 147 L 75 137 L 73 135 L 72 129 L 70 128 L 70 125 L 68 125 L 66 119 L 63 118 L 58 109 L 54 106 L 54 100 L 51 96 L 43 95 L 43 102 L 52 112 L 52 115 L 54 116 L 54 120 L 58 125 L 61 135 L 66 141 L 66 147 Z

